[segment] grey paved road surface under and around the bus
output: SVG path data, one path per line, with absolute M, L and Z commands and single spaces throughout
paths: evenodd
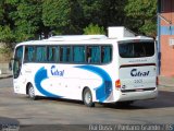
M 73 100 L 30 100 L 13 93 L 12 79 L 0 80 L 0 117 L 16 119 L 26 126 L 23 129 L 27 124 L 174 124 L 173 99 L 174 92 L 160 91 L 157 99 L 135 102 L 129 107 L 97 104 L 88 108 Z

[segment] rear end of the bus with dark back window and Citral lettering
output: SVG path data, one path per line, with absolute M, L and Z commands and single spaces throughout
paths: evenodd
M 120 102 L 156 98 L 157 57 L 152 39 L 124 40 L 119 43 Z

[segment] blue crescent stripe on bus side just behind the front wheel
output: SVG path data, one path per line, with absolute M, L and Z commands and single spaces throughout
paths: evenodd
M 48 96 L 48 97 L 62 97 L 62 96 L 59 96 L 59 95 L 55 95 L 55 94 L 52 94 L 48 91 L 46 91 L 45 88 L 42 88 L 41 86 L 41 82 L 46 79 L 49 79 L 48 75 L 47 75 L 47 70 L 42 67 L 40 68 L 37 72 L 36 72 L 36 75 L 35 75 L 35 85 L 36 85 L 36 88 L 45 96 Z

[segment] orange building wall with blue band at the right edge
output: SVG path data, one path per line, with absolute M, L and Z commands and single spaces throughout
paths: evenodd
M 170 39 L 174 39 L 174 0 L 159 0 L 159 13 L 163 19 L 158 19 L 161 50 L 161 75 L 174 75 L 174 45 L 170 45 Z M 169 23 L 170 22 L 170 23 Z

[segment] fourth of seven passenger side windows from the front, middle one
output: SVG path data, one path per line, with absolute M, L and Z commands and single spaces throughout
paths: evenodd
M 60 47 L 60 62 L 71 62 L 72 61 L 72 49 L 70 46 Z

